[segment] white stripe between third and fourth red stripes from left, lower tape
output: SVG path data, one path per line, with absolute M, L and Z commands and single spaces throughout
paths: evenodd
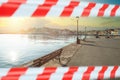
M 82 80 L 83 73 L 88 69 L 88 67 L 79 67 L 78 71 L 73 74 L 72 80 Z M 79 77 L 78 77 L 79 74 Z

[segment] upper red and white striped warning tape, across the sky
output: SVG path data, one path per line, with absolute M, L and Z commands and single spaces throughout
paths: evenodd
M 120 5 L 75 0 L 0 0 L 0 17 L 120 16 Z

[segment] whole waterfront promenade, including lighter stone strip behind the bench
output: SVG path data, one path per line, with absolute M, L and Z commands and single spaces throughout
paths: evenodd
M 43 66 L 120 65 L 120 39 L 91 38 L 63 48 L 61 63 L 51 60 Z

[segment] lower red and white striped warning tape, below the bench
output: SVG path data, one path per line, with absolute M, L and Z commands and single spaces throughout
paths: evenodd
M 0 80 L 103 80 L 120 78 L 119 66 L 0 68 Z

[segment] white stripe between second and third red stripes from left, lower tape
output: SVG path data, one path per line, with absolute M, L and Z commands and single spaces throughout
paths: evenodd
M 51 77 L 50 77 L 50 80 L 62 80 L 62 78 L 63 78 L 63 76 L 64 76 L 64 73 L 66 73 L 66 72 L 68 72 L 68 70 L 69 70 L 69 68 L 68 67 L 66 67 L 66 68 L 57 68 L 57 70 L 55 71 L 55 73 L 53 73 L 52 75 L 51 75 Z M 56 75 L 56 73 L 58 73 L 57 75 Z M 61 74 L 61 75 L 59 75 L 59 73 Z

